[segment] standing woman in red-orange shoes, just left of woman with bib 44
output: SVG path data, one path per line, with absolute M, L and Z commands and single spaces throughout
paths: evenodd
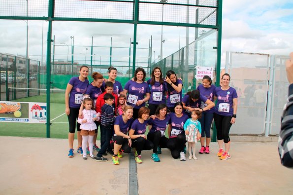
M 214 90 L 216 86 L 212 84 L 212 79 L 205 75 L 202 78 L 202 84 L 198 85 L 196 88 L 201 95 L 209 99 L 210 101 L 214 101 Z M 199 102 L 200 109 L 204 109 L 207 107 L 207 104 L 203 101 Z M 201 118 L 199 118 L 199 122 L 201 125 L 201 138 L 200 138 L 200 144 L 201 148 L 199 150 L 199 154 L 209 154 L 210 153 L 210 142 L 211 142 L 211 125 L 214 118 L 214 108 L 205 110 L 201 113 Z M 206 146 L 204 147 L 204 137 L 205 137 L 205 143 Z

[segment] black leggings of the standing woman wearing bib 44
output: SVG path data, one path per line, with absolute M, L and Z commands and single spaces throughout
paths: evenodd
M 214 121 L 217 128 L 217 139 L 224 139 L 224 143 L 228 143 L 230 141 L 229 131 L 232 126 L 231 118 L 232 116 L 223 116 L 214 113 Z

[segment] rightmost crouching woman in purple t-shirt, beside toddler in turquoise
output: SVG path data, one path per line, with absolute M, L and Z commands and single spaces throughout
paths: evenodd
M 175 145 L 175 147 L 171 149 L 171 155 L 174 159 L 178 159 L 180 156 L 180 161 L 185 161 L 184 146 L 186 139 L 183 126 L 188 116 L 183 113 L 183 105 L 181 102 L 175 103 L 174 111 L 175 113 L 169 113 L 170 121 L 168 126 L 169 140 Z

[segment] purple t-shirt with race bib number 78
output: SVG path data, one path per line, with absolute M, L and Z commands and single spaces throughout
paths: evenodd
M 140 106 L 136 106 L 135 103 L 138 100 L 144 99 L 145 94 L 150 92 L 150 88 L 147 83 L 142 82 L 141 84 L 138 84 L 135 81 L 130 80 L 125 84 L 124 89 L 128 90 L 128 105 L 132 106 L 134 109 L 140 109 L 145 106 L 145 102 Z

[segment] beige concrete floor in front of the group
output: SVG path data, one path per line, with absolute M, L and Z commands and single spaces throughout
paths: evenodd
M 0 195 L 128 194 L 128 154 L 113 166 L 77 153 L 68 158 L 67 147 L 67 139 L 0 137 Z M 137 165 L 139 195 L 293 194 L 293 170 L 281 166 L 276 141 L 231 142 L 227 161 L 216 156 L 217 143 L 210 148 L 210 154 L 198 154 L 196 143 L 198 160 L 186 162 L 163 149 L 161 162 L 155 163 L 152 151 L 143 151 L 143 163 Z

